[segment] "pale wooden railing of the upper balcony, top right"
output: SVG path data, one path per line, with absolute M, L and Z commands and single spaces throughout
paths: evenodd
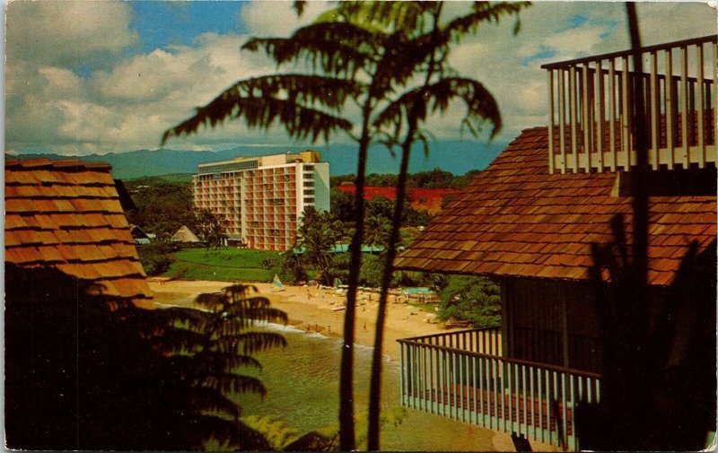
M 716 161 L 716 36 L 642 49 L 653 170 Z M 542 65 L 548 71 L 548 166 L 565 173 L 635 165 L 631 52 Z

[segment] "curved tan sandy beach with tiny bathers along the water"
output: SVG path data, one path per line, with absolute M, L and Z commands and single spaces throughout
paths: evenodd
M 162 305 L 192 306 L 197 294 L 218 292 L 231 285 L 229 282 L 163 280 L 150 278 L 150 289 L 154 292 L 154 301 Z M 258 293 L 267 297 L 277 309 L 284 310 L 289 324 L 302 330 L 319 332 L 322 335 L 342 336 L 344 328 L 343 309 L 346 295 L 338 294 L 335 289 L 319 289 L 314 286 L 288 286 L 285 291 L 273 292 L 270 283 L 254 283 Z M 373 346 L 374 325 L 378 309 L 379 295 L 360 292 L 356 305 L 356 344 Z M 390 296 L 390 301 L 393 297 Z M 386 327 L 382 352 L 390 360 L 397 360 L 398 338 L 418 335 L 431 335 L 446 332 L 438 324 L 429 322 L 435 315 L 423 309 L 405 303 L 389 303 L 387 307 Z

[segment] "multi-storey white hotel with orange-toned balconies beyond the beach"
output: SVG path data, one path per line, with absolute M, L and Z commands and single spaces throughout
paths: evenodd
M 329 210 L 329 164 L 315 151 L 204 163 L 192 181 L 195 206 L 249 248 L 291 248 L 304 208 Z

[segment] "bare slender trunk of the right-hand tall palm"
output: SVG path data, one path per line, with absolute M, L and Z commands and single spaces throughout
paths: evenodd
M 409 158 L 411 157 L 411 146 L 414 144 L 416 133 L 416 114 L 413 111 L 409 114 L 407 138 L 401 145 L 401 164 L 399 167 L 397 181 L 397 199 L 394 202 L 394 214 L 391 219 L 391 232 L 389 237 L 389 248 L 387 249 L 386 261 L 381 274 L 381 293 L 379 296 L 379 311 L 376 315 L 376 331 L 374 332 L 374 349 L 372 351 L 372 383 L 369 390 L 369 433 L 367 438 L 367 449 L 370 451 L 379 449 L 379 416 L 381 410 L 381 349 L 384 344 L 384 324 L 386 322 L 387 298 L 391 275 L 394 273 L 394 259 L 397 257 L 399 232 L 401 229 L 401 218 L 404 215 L 404 200 L 407 196 L 407 175 Z

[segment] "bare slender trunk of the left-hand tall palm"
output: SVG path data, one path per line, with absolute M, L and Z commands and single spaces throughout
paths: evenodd
M 359 285 L 359 271 L 362 267 L 362 243 L 364 237 L 364 184 L 366 181 L 366 158 L 369 153 L 369 119 L 372 109 L 372 93 L 363 106 L 362 135 L 359 140 L 359 160 L 356 165 L 355 180 L 355 233 L 350 247 L 349 281 L 346 293 L 346 312 L 344 318 L 344 344 L 341 354 L 339 374 L 339 449 L 356 449 L 354 423 L 354 340 L 356 289 Z

